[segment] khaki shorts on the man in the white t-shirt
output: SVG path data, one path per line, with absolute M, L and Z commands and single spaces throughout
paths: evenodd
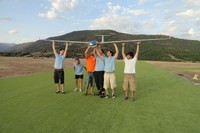
M 136 91 L 135 74 L 124 74 L 124 90 Z

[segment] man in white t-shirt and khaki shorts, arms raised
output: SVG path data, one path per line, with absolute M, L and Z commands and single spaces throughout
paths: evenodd
M 138 60 L 139 55 L 139 44 L 140 42 L 137 42 L 137 49 L 136 53 L 133 57 L 133 52 L 128 52 L 126 55 L 124 53 L 124 47 L 125 43 L 122 43 L 122 56 L 125 62 L 124 67 L 124 91 L 125 91 L 125 97 L 124 99 L 128 99 L 128 89 L 131 90 L 131 100 L 135 101 L 135 91 L 136 91 L 136 83 L 135 83 L 135 68 L 136 68 L 136 62 Z

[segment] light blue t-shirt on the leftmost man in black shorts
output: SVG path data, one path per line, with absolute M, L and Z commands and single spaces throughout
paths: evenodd
M 62 68 L 64 68 L 64 60 L 65 60 L 65 56 L 64 55 L 56 54 L 54 68 L 55 69 L 62 69 Z

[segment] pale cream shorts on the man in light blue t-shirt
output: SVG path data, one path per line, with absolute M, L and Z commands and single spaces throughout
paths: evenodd
M 116 85 L 116 78 L 115 78 L 115 73 L 106 73 L 104 74 L 104 88 L 108 89 L 109 85 L 111 89 L 114 89 L 117 87 Z

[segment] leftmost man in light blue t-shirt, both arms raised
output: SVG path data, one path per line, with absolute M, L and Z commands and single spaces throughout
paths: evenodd
M 56 94 L 60 93 L 60 86 L 62 88 L 62 94 L 65 94 L 64 91 L 64 60 L 67 55 L 68 43 L 65 44 L 65 49 L 60 49 L 59 54 L 56 52 L 55 41 L 52 41 L 52 49 L 55 55 L 54 63 L 54 83 L 56 84 Z

